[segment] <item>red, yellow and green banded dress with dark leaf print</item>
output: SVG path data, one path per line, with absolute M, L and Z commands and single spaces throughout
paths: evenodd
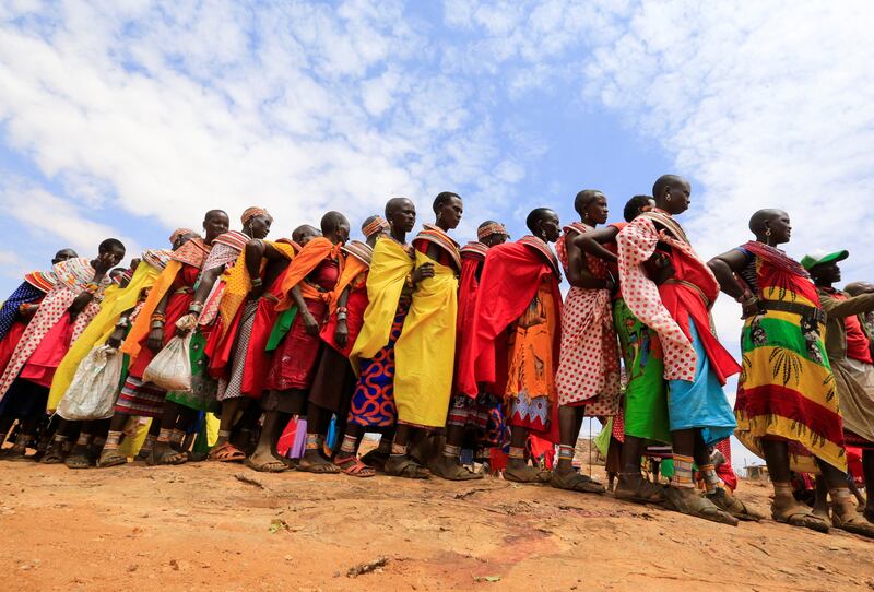
M 756 277 L 759 299 L 819 308 L 811 280 L 761 250 L 756 256 Z M 734 406 L 735 435 L 763 458 L 763 439 L 788 441 L 794 471 L 816 472 L 813 457 L 847 471 L 824 332 L 825 327 L 812 318 L 766 310 L 746 319 L 741 335 L 743 374 Z

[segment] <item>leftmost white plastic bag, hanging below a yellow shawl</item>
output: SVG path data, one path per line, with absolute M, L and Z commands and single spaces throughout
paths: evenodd
M 88 352 L 58 403 L 58 415 L 74 422 L 111 417 L 121 380 L 121 357 L 108 345 Z

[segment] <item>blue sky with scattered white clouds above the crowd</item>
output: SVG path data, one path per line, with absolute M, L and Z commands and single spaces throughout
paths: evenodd
M 874 279 L 870 2 L 0 4 L 0 292 L 61 247 L 133 254 L 212 208 L 274 235 L 336 209 L 464 198 L 523 234 L 583 188 L 613 218 L 686 176 L 704 257 L 790 212 L 790 254 L 848 248 Z M 1 298 L 2 296 L 0 296 Z M 739 334 L 731 301 L 722 338 Z M 736 351 L 736 347 L 734 347 Z

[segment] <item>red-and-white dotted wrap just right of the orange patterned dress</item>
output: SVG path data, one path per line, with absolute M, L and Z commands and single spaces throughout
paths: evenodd
M 567 273 L 568 237 L 592 227 L 575 223 L 556 244 Z M 589 271 L 599 280 L 607 276 L 606 263 L 586 253 Z M 619 405 L 619 352 L 613 329 L 609 289 L 571 287 L 562 311 L 562 346 L 556 374 L 559 405 L 584 405 L 587 416 L 615 415 Z

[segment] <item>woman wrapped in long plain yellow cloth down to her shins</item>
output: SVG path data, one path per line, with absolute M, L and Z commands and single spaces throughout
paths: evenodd
M 415 429 L 446 425 L 456 363 L 461 258 L 458 244 L 447 232 L 461 222 L 463 206 L 460 197 L 445 191 L 434 200 L 433 208 L 436 223 L 426 224 L 413 240 L 415 287 L 403 333 L 394 346 L 398 429 L 386 463 L 389 475 L 413 478 L 422 477 L 423 471 L 408 454 L 410 436 Z

